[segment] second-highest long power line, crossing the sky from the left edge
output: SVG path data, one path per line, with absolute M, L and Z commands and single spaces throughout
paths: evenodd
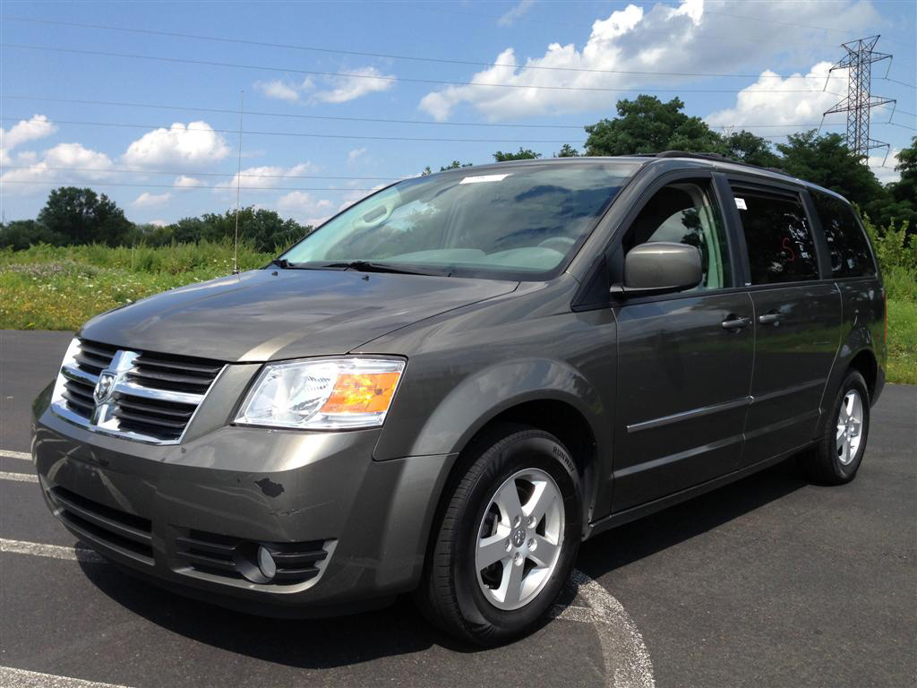
M 260 72 L 290 72 L 295 74 L 309 74 L 312 76 L 329 76 L 334 78 L 347 79 L 371 79 L 374 81 L 384 82 L 403 82 L 403 83 L 428 83 L 446 86 L 476 86 L 480 88 L 517 88 L 517 89 L 537 89 L 547 91 L 590 91 L 598 93 L 655 93 L 655 94 L 737 94 L 737 93 L 769 93 L 769 94 L 808 94 L 814 93 L 812 89 L 686 89 L 686 88 L 608 88 L 604 86 L 560 86 L 545 84 L 525 84 L 525 83 L 481 83 L 481 82 L 456 82 L 445 79 L 417 79 L 413 77 L 387 76 L 360 74 L 357 72 L 319 72 L 315 70 L 302 70 L 293 67 L 275 67 L 260 64 L 241 64 L 238 62 L 219 62 L 210 60 L 192 60 L 190 58 L 172 58 L 160 55 L 140 55 L 133 52 L 107 52 L 104 50 L 78 50 L 75 48 L 57 48 L 53 46 L 27 45 L 24 43 L 3 43 L 0 48 L 14 48 L 17 50 L 41 50 L 45 52 L 66 52 L 77 55 L 95 55 L 99 57 L 116 57 L 130 60 L 149 60 L 183 64 L 198 64 L 207 67 L 229 67 L 233 69 L 257 70 Z M 790 77 L 804 78 L 804 77 Z M 823 78 L 823 77 L 822 77 Z M 831 92 L 828 92 L 831 93 Z M 840 95 L 834 94 L 832 95 Z

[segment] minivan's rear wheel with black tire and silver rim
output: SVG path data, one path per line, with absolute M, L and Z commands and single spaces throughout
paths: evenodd
M 853 414 L 849 412 L 851 400 L 855 406 Z M 853 420 L 849 419 L 851 415 L 855 416 Z M 845 428 L 850 428 L 849 433 Z M 834 398 L 822 437 L 814 449 L 801 457 L 809 479 L 824 485 L 852 481 L 863 461 L 868 435 L 869 391 L 863 376 L 850 371 Z

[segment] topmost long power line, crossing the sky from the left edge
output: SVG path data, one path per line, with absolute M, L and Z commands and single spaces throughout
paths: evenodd
M 65 27 L 77 27 L 77 28 L 98 28 L 106 31 L 125 31 L 128 33 L 139 33 L 147 34 L 151 36 L 168 36 L 171 38 L 179 39 L 194 39 L 194 40 L 212 40 L 220 43 L 239 43 L 242 45 L 252 45 L 259 46 L 262 48 L 281 48 L 285 50 L 308 50 L 312 52 L 326 52 L 333 53 L 338 55 L 353 55 L 358 57 L 370 57 L 370 58 L 381 58 L 385 60 L 405 60 L 405 61 L 417 61 L 417 62 L 433 62 L 436 64 L 460 64 L 467 65 L 472 67 L 512 67 L 513 69 L 518 70 L 539 70 L 547 72 L 585 72 L 585 73 L 600 73 L 600 74 L 632 74 L 632 75 L 642 75 L 642 76 L 697 76 L 697 77 L 726 77 L 726 78 L 744 78 L 744 79 L 757 79 L 757 78 L 766 78 L 766 79 L 782 79 L 784 77 L 779 74 L 728 74 L 728 73 L 711 73 L 711 72 L 649 72 L 649 71 L 635 71 L 635 70 L 611 70 L 611 69 L 590 69 L 586 67 L 549 67 L 545 65 L 535 65 L 535 64 L 507 64 L 501 62 L 489 62 L 489 61 L 477 61 L 477 60 L 455 60 L 447 58 L 433 58 L 433 57 L 421 57 L 416 55 L 396 55 L 386 52 L 367 52 L 362 50 L 339 50 L 332 48 L 318 48 L 315 46 L 305 46 L 305 45 L 296 45 L 291 43 L 272 43 L 270 41 L 264 40 L 250 40 L 250 39 L 234 39 L 226 38 L 222 36 L 208 36 L 203 34 L 192 34 L 192 33 L 182 33 L 178 31 L 161 31 L 152 28 L 134 28 L 134 27 L 116 27 L 107 24 L 86 24 L 82 22 L 72 22 L 72 21 L 59 21 L 56 19 L 43 19 L 39 17 L 13 17 L 9 15 L 4 15 L 2 18 L 10 21 L 23 21 L 31 22 L 36 24 L 52 24 L 57 26 Z M 663 32 L 660 32 L 663 33 Z M 668 34 L 667 34 L 668 35 Z M 792 76 L 786 77 L 788 79 L 817 79 L 822 80 L 821 76 Z M 844 77 L 838 76 L 833 77 L 835 79 L 843 79 Z

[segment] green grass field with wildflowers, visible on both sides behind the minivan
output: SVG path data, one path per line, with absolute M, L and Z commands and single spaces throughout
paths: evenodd
M 161 249 L 101 246 L 0 251 L 0 328 L 78 329 L 99 313 L 158 292 L 228 274 L 228 243 L 182 244 Z M 240 247 L 249 270 L 271 254 Z M 917 384 L 917 275 L 886 272 L 889 292 L 889 368 L 892 383 Z

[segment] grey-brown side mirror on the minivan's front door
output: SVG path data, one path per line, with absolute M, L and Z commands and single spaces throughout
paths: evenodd
M 612 291 L 623 295 L 667 294 L 701 283 L 701 250 L 688 244 L 650 241 L 624 257 L 624 284 Z

